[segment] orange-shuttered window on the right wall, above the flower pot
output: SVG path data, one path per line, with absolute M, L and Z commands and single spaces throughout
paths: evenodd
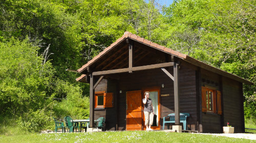
M 202 87 L 202 112 L 222 114 L 220 91 Z

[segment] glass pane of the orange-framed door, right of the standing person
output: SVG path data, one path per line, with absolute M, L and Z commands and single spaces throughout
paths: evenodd
M 152 99 L 153 110 L 154 110 L 154 122 L 152 126 L 158 126 L 158 92 L 150 92 L 150 98 Z

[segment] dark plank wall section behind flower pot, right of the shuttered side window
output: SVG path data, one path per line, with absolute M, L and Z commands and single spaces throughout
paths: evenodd
M 242 84 L 226 77 L 222 80 L 224 126 L 229 122 L 234 127 L 234 132 L 244 132 Z

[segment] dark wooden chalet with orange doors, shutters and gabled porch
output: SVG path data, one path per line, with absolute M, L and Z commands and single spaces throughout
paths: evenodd
M 104 117 L 106 130 L 145 130 L 142 99 L 149 91 L 155 130 L 163 117 L 185 112 L 188 130 L 221 133 L 229 122 L 234 132 L 245 131 L 243 83 L 252 82 L 132 33 L 77 72 L 77 81 L 90 83 L 90 127 Z

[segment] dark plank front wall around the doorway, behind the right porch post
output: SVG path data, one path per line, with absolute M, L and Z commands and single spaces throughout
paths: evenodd
M 167 69 L 173 74 L 173 68 Z M 126 126 L 126 91 L 142 90 L 143 88 L 161 87 L 161 94 L 170 96 L 160 97 L 161 121 L 169 113 L 174 113 L 174 86 L 170 79 L 161 69 L 124 73 L 120 75 L 118 106 L 118 130 L 125 130 Z M 188 129 L 196 130 L 197 103 L 196 103 L 196 71 L 185 66 L 180 68 L 180 112 L 190 113 Z

